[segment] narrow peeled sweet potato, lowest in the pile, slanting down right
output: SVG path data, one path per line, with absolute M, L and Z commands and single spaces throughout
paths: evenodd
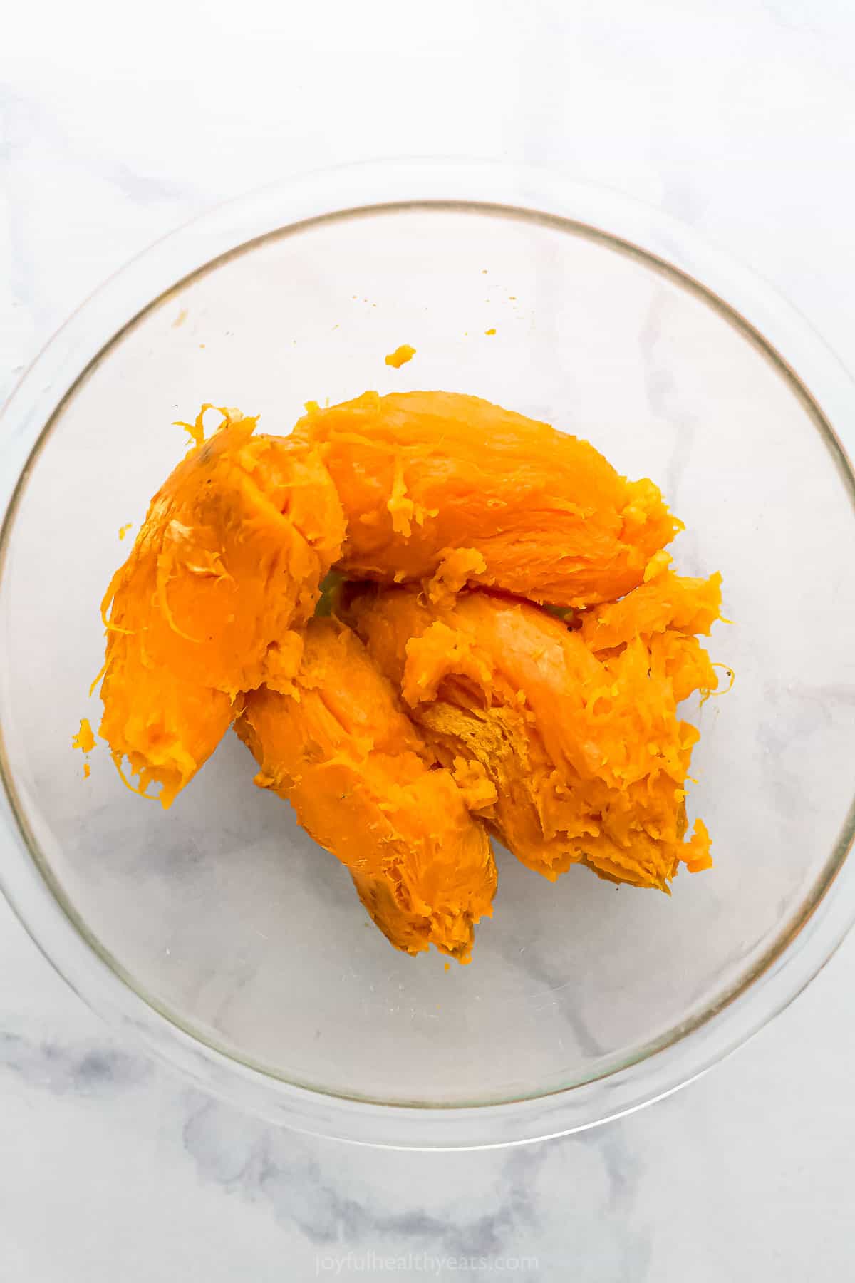
M 469 960 L 474 924 L 492 913 L 490 839 L 350 629 L 311 620 L 291 690 L 247 694 L 236 730 L 255 783 L 346 865 L 396 948 Z

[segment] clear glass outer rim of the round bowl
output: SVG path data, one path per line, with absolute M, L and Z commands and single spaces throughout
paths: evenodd
M 788 377 L 855 495 L 855 384 L 805 318 L 754 272 L 691 227 L 617 191 L 549 171 L 479 160 L 379 160 L 279 180 L 168 234 L 110 276 L 56 331 L 0 414 L 0 590 L 17 499 L 67 400 L 105 349 L 188 278 L 254 242 L 319 219 L 381 208 L 438 205 L 517 213 L 558 223 L 641 257 L 700 294 Z M 795 362 L 791 364 L 791 359 Z M 729 1055 L 782 1011 L 855 920 L 855 799 L 838 842 L 799 912 L 714 1007 L 669 1030 L 664 1044 L 590 1082 L 478 1106 L 405 1106 L 288 1083 L 194 1035 L 146 997 L 76 922 L 38 863 L 15 803 L 0 736 L 0 889 L 44 956 L 119 1034 L 205 1091 L 295 1130 L 390 1148 L 490 1148 L 583 1130 L 670 1094 Z M 17 851 L 17 857 L 14 852 Z

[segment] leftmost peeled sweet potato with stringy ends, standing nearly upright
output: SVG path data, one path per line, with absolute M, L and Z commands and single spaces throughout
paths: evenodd
M 236 697 L 286 690 L 344 516 L 317 452 L 223 412 L 151 500 L 103 603 L 100 733 L 168 807 L 214 751 Z M 109 611 L 109 618 L 108 618 Z

